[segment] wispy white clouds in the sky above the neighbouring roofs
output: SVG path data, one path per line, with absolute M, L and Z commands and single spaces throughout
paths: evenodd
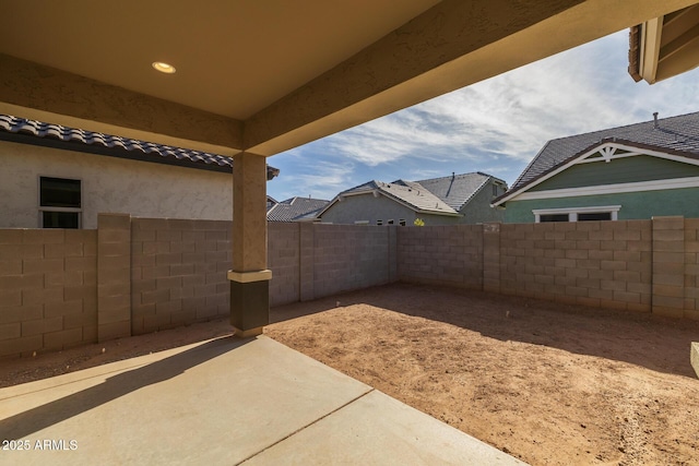
M 530 159 L 550 139 L 651 119 L 650 109 L 665 116 L 695 111 L 696 80 L 653 87 L 633 83 L 626 71 L 627 34 L 344 131 L 328 144 L 368 166 L 430 150 L 447 157 L 489 152 Z M 447 147 L 451 151 L 443 151 Z

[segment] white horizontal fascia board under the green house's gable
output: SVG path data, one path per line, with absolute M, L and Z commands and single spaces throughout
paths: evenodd
M 577 198 L 582 195 L 620 194 L 628 192 L 661 191 L 682 188 L 699 188 L 699 177 L 673 178 L 665 180 L 640 181 L 633 183 L 600 184 L 594 187 L 525 192 L 517 196 L 517 200 L 530 201 L 535 199 Z

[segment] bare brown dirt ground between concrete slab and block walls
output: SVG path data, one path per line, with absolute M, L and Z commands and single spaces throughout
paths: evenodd
M 699 322 L 403 284 L 271 316 L 268 336 L 530 464 L 699 464 Z M 214 321 L 0 360 L 0 386 L 229 333 Z

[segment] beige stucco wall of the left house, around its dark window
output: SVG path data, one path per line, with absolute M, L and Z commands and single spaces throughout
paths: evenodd
M 229 220 L 233 176 L 163 164 L 0 142 L 0 228 L 39 226 L 40 176 L 82 180 L 82 228 L 98 213 Z

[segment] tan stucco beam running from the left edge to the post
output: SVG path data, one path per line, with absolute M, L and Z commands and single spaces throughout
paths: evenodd
M 0 112 L 235 155 L 242 123 L 0 53 Z

